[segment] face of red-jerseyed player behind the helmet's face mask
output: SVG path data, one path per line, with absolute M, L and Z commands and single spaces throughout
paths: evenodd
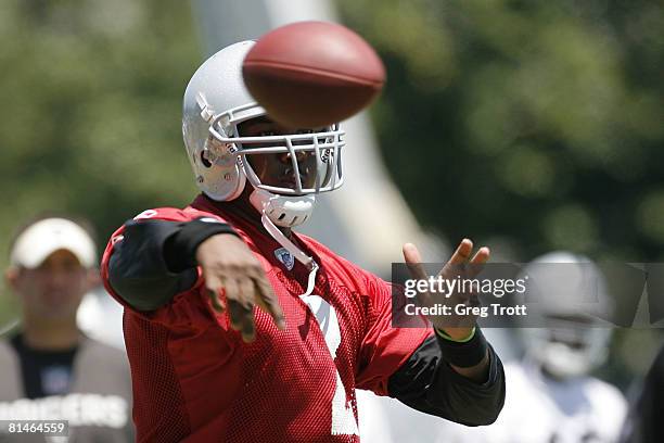
M 289 129 L 270 121 L 268 117 L 259 117 L 241 123 L 238 125 L 238 130 L 241 137 L 266 137 L 322 132 L 325 131 L 325 128 Z M 310 140 L 293 141 L 294 145 L 310 143 Z M 265 148 L 271 144 L 272 143 L 247 143 L 244 148 Z M 296 188 L 295 170 L 290 153 L 247 154 L 246 159 L 263 185 L 290 189 Z M 298 151 L 296 152 L 296 160 L 302 187 L 314 188 L 316 186 L 317 174 L 316 152 Z

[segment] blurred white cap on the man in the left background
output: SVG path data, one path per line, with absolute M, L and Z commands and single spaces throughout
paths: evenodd
M 58 250 L 72 252 L 82 267 L 95 265 L 94 242 L 84 228 L 66 218 L 46 218 L 21 232 L 10 262 L 14 266 L 36 268 Z

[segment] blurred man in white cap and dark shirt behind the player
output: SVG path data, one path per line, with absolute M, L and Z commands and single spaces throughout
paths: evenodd
M 127 356 L 76 325 L 82 296 L 100 282 L 88 231 L 61 217 L 27 225 L 12 243 L 5 279 L 22 320 L 0 341 L 0 420 L 68 420 L 69 442 L 132 441 Z M 0 441 L 13 438 L 0 433 Z

